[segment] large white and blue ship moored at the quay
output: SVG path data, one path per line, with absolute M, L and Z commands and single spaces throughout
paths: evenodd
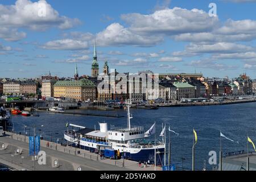
M 165 143 L 152 143 L 146 140 L 154 134 L 155 125 L 145 133 L 143 126 L 130 125 L 132 118 L 130 105 L 127 105 L 127 127 L 111 126 L 108 130 L 108 123 L 99 123 L 100 130 L 96 130 L 70 124 L 69 126 L 77 127 L 79 130 L 65 131 L 64 139 L 69 145 L 90 152 L 114 150 L 129 160 L 137 162 L 150 160 L 151 164 L 156 160 L 156 164 L 163 165 Z

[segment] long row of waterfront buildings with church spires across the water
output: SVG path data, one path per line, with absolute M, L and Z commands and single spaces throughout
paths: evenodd
M 98 80 L 99 64 L 97 61 L 96 44 L 94 45 L 91 76 L 79 77 L 76 66 L 73 78 L 58 78 L 42 76 L 34 80 L 11 80 L 3 78 L 0 80 L 0 95 L 28 95 L 37 94 L 39 97 L 65 97 L 76 101 L 109 101 L 126 100 L 134 101 L 152 100 L 160 98 L 162 100 L 181 100 L 182 98 L 210 98 L 213 96 L 240 96 L 251 95 L 256 91 L 256 80 L 251 80 L 246 74 L 238 78 L 229 80 L 228 78 L 204 78 L 201 73 L 188 74 L 159 74 L 158 89 L 143 89 L 144 81 L 142 78 L 129 83 L 130 73 L 125 73 L 127 84 L 120 88 L 118 81 L 108 82 L 109 90 L 100 92 L 97 88 L 102 81 Z M 102 73 L 117 76 L 118 72 L 109 72 L 108 62 L 105 61 Z M 139 72 L 151 75 L 150 82 L 154 84 L 154 74 L 151 71 Z M 137 81 L 137 82 L 136 82 Z M 148 83 L 148 80 L 146 81 Z M 106 86 L 104 85 L 104 86 Z M 125 92 L 122 92 L 125 90 Z

